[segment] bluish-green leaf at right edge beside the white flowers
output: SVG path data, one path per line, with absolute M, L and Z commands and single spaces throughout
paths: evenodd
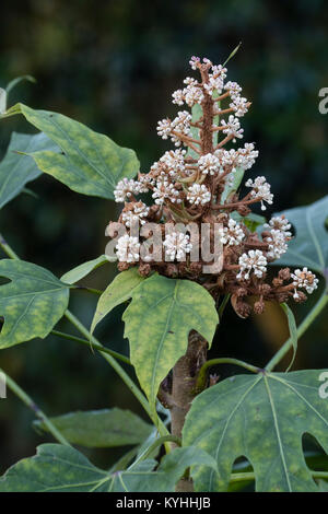
M 328 232 L 325 226 L 328 218 L 328 196 L 306 207 L 297 207 L 284 214 L 294 225 L 295 237 L 289 242 L 288 252 L 274 265 L 306 266 L 325 277 L 328 268 Z

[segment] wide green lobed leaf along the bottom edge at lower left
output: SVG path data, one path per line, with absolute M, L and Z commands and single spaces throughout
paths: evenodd
M 216 469 L 214 459 L 197 448 L 176 448 L 153 471 L 156 464 L 147 459 L 126 471 L 108 472 L 78 449 L 43 444 L 35 457 L 20 460 L 5 472 L 0 492 L 171 492 L 192 464 Z

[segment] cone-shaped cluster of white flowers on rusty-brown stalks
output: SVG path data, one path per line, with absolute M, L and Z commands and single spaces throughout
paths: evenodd
M 306 300 L 304 291 L 312 293 L 318 282 L 307 268 L 294 273 L 281 269 L 270 281 L 267 277 L 268 264 L 286 252 L 292 235 L 289 221 L 274 217 L 260 235 L 245 223 L 253 205 L 259 202 L 266 210 L 266 205 L 272 203 L 270 184 L 263 176 L 247 178 L 245 186 L 249 191 L 244 197 L 232 187 L 236 174 L 248 172 L 258 156 L 254 143 L 234 147 L 243 139 L 241 118 L 250 103 L 242 95 L 239 84 L 226 81 L 227 70 L 223 66 L 198 57 L 192 57 L 189 63 L 198 79 L 187 77 L 184 87 L 172 95 L 173 103 L 183 110 L 174 119 L 164 118 L 157 125 L 159 136 L 171 140 L 174 149 L 166 151 L 149 173 L 140 173 L 138 180 L 124 178 L 116 187 L 116 201 L 125 203 L 118 221 L 127 229 L 116 245 L 118 267 L 126 270 L 138 266 L 142 276 L 157 271 L 167 277 L 188 278 L 203 284 L 214 297 L 230 293 L 232 305 L 242 317 L 251 311 L 247 296 L 257 297 L 256 313 L 262 313 L 265 300 L 281 303 L 293 297 L 302 302 Z M 150 191 L 153 203 L 148 206 L 140 195 Z M 161 226 L 164 259 L 142 260 L 139 249 L 143 240 L 129 232 L 136 221 L 141 226 L 145 223 Z M 199 226 L 209 224 L 211 244 L 215 235 L 223 245 L 218 273 L 206 274 L 201 257 L 198 261 L 190 259 L 195 243 L 188 233 L 175 230 L 178 223 L 190 222 Z M 167 224 L 172 229 L 169 234 L 164 231 Z M 108 229 L 112 236 L 117 235 L 113 223 Z

